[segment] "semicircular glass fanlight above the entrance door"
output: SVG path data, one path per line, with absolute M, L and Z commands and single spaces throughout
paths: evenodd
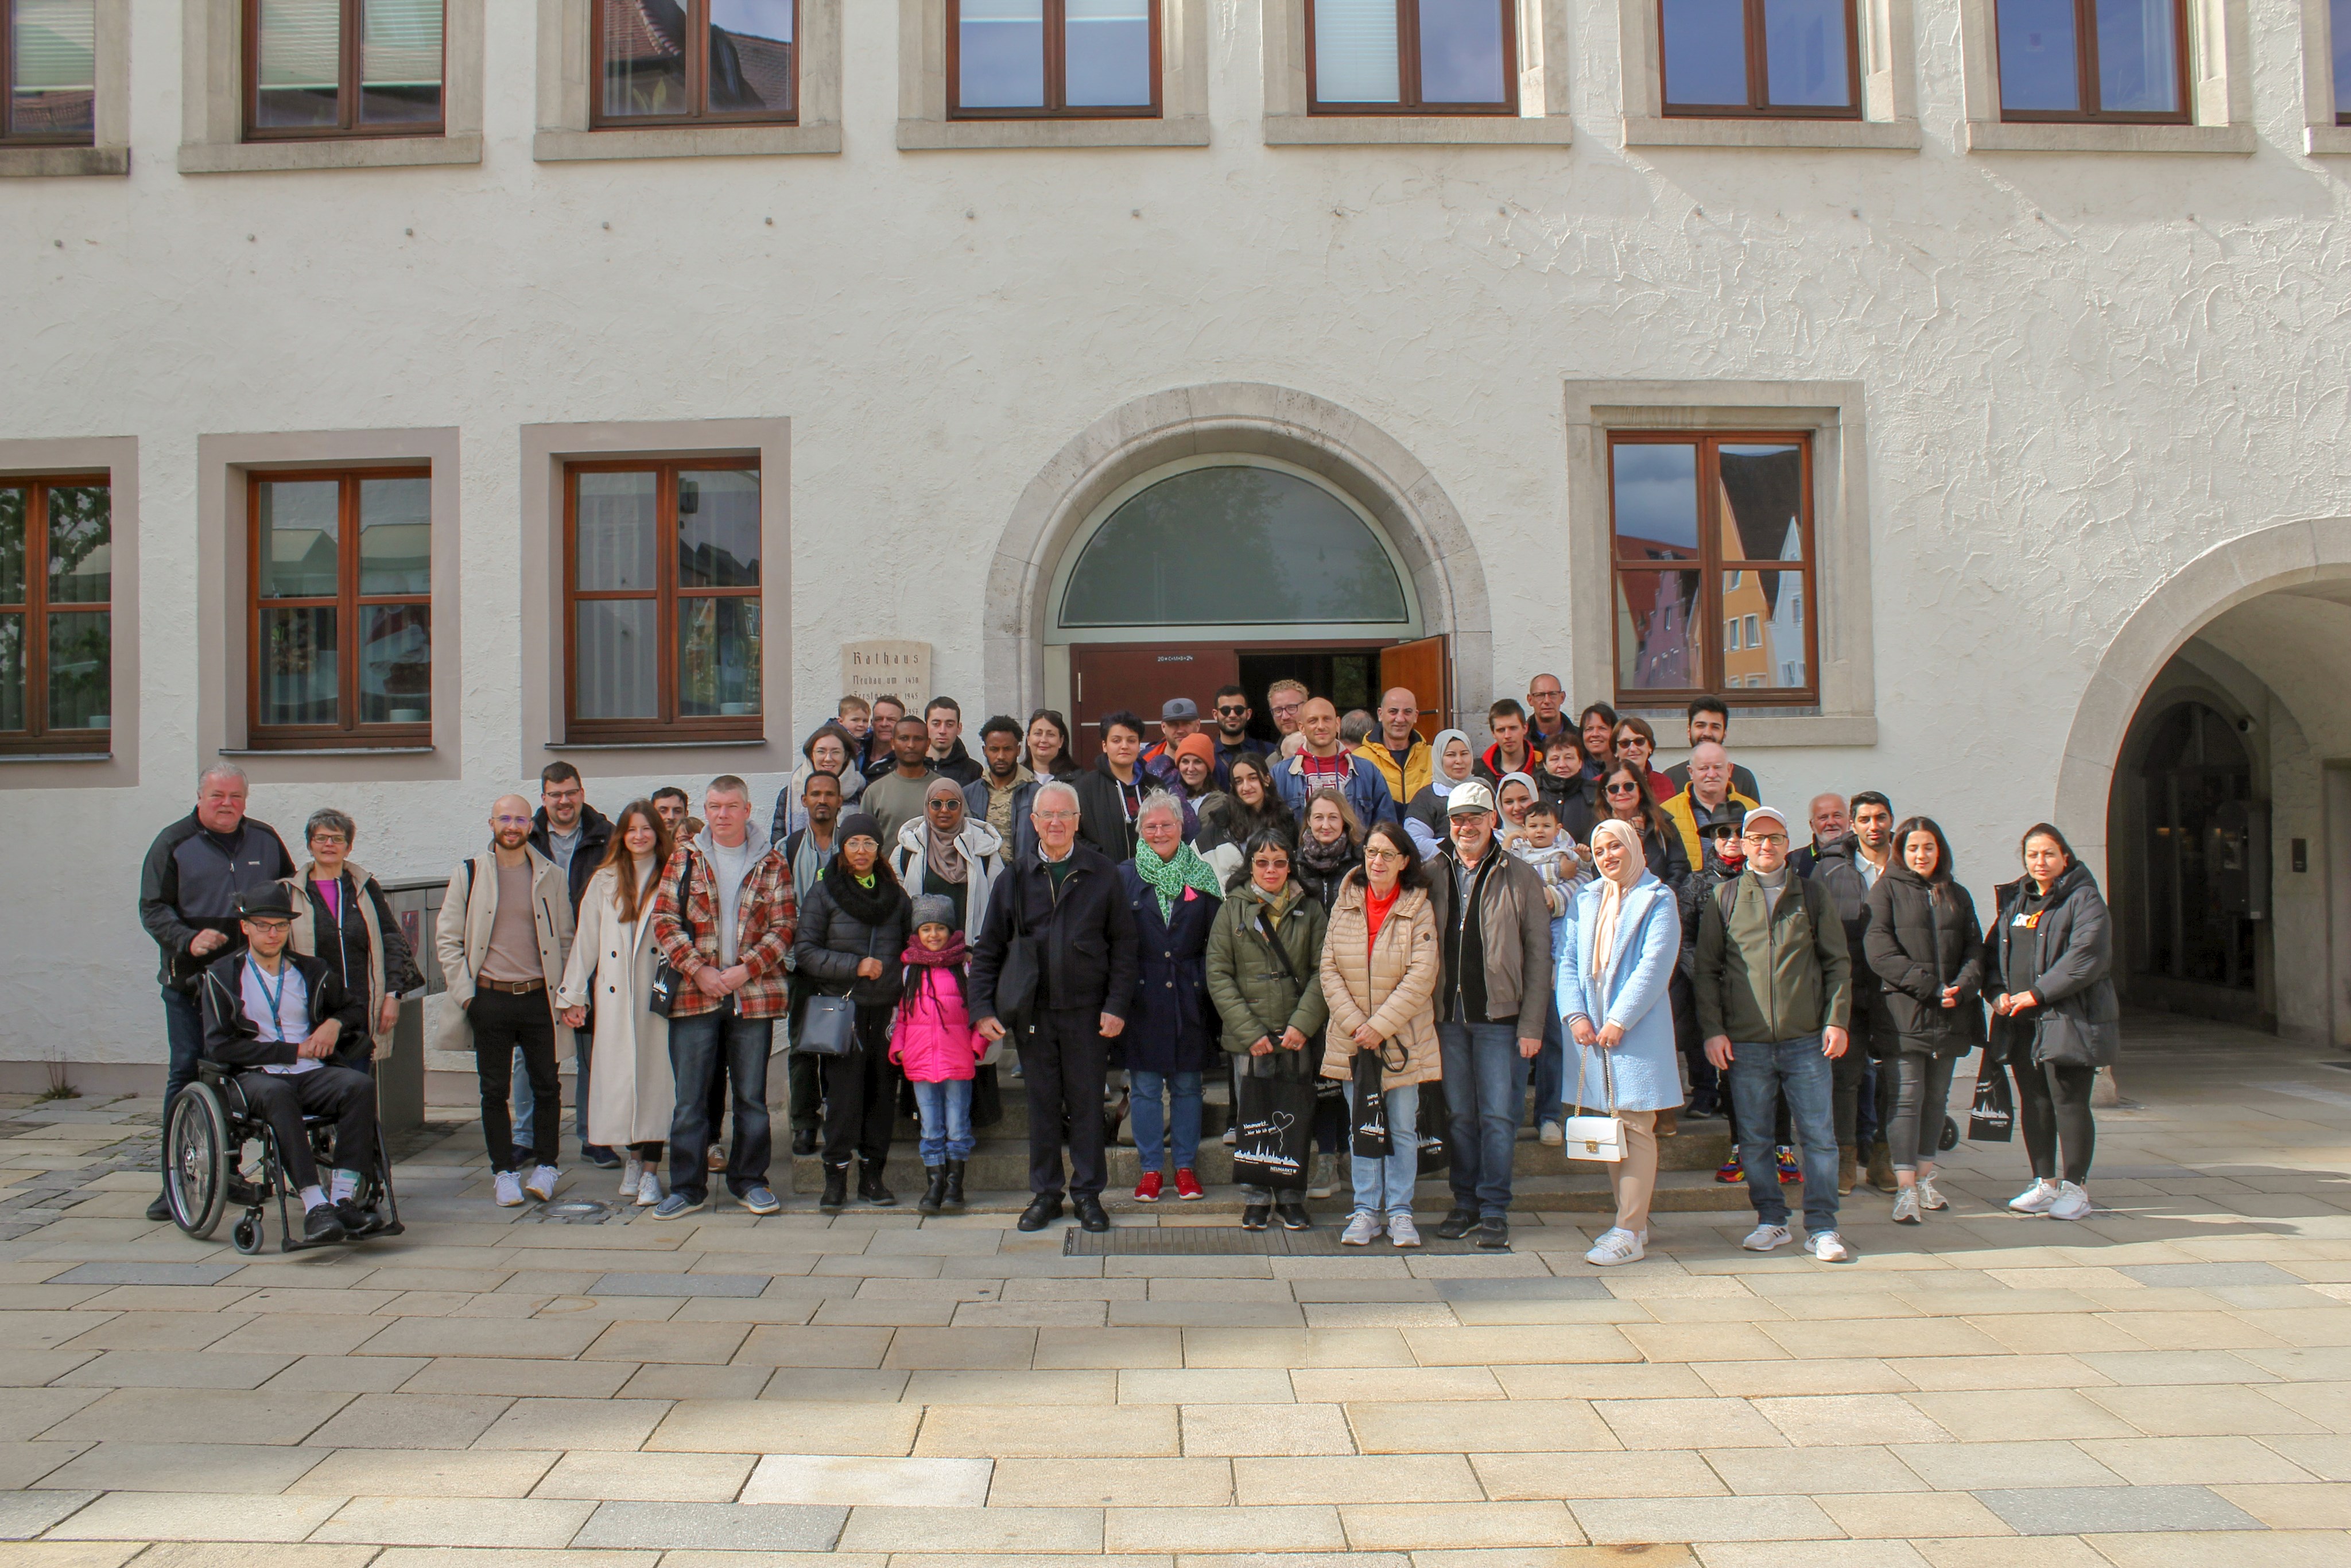
M 1199 562 L 1218 562 L 1201 571 Z M 1387 548 L 1338 496 L 1272 468 L 1194 468 L 1147 487 L 1086 541 L 1063 625 L 1411 621 Z

